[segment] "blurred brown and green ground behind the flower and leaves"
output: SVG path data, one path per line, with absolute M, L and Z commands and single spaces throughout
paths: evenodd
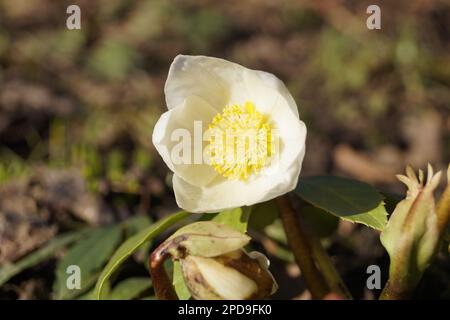
M 66 28 L 70 4 L 81 8 L 81 30 Z M 381 8 L 381 30 L 366 27 L 370 4 Z M 67 232 L 120 224 L 126 237 L 177 210 L 151 143 L 177 54 L 282 79 L 308 127 L 302 175 L 402 194 L 395 174 L 406 164 L 450 161 L 449 40 L 448 1 L 1 0 L 0 267 L 20 272 L 0 273 L 0 299 L 75 298 L 58 291 L 67 246 L 23 259 Z M 365 268 L 387 266 L 378 237 L 340 223 L 328 239 L 357 298 L 377 294 L 364 289 Z M 308 298 L 283 237 L 272 238 L 259 245 L 289 287 L 276 298 Z M 124 274 L 146 276 L 135 258 Z M 418 297 L 450 297 L 448 261 L 427 272 Z

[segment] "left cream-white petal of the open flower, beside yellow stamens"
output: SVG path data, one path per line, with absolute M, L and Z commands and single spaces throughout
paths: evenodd
M 208 103 L 196 96 L 190 96 L 178 107 L 165 112 L 153 130 L 153 144 L 170 170 L 189 183 L 199 186 L 208 184 L 217 173 L 204 162 L 194 163 L 195 152 L 201 154 L 204 149 L 201 134 L 194 134 L 194 122 L 201 121 L 202 132 L 205 132 L 214 115 L 215 110 Z M 181 143 L 181 140 L 174 141 L 172 134 L 175 130 L 179 131 L 180 129 L 185 129 L 190 137 L 187 149 L 190 150 L 191 156 L 187 163 L 176 161 L 172 154 L 175 150 L 174 147 Z M 194 139 L 200 140 L 195 143 Z

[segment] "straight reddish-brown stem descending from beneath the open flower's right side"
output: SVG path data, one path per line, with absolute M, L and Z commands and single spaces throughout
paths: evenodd
M 314 264 L 311 248 L 305 234 L 300 228 L 291 201 L 286 195 L 276 198 L 275 201 L 280 209 L 280 217 L 283 222 L 284 230 L 286 231 L 289 246 L 302 271 L 306 285 L 310 290 L 313 299 L 321 299 L 329 292 L 329 290 L 322 274 Z

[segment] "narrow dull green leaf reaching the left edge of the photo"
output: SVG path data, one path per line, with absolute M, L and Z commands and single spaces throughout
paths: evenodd
M 56 251 L 83 237 L 86 232 L 86 230 L 82 230 L 57 236 L 43 247 L 37 249 L 16 263 L 4 265 L 0 268 L 0 286 L 23 270 L 47 260 L 53 256 Z

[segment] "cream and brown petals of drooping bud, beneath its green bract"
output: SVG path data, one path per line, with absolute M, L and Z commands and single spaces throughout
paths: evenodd
M 249 300 L 267 298 L 277 289 L 262 257 L 236 250 L 214 258 L 187 256 L 180 261 L 194 299 Z

